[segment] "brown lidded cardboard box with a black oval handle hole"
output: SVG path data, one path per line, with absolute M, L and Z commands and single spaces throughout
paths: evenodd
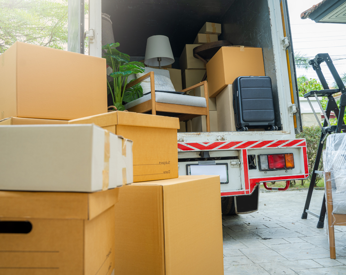
M 0 191 L 1 274 L 110 275 L 119 189 L 95 193 Z M 8 227 L 5 226 L 8 225 Z

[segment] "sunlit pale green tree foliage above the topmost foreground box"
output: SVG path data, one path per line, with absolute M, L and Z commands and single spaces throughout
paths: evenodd
M 67 0 L 1 0 L 0 54 L 16 41 L 65 49 Z

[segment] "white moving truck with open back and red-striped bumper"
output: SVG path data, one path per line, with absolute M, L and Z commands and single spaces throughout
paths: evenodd
M 258 210 L 261 182 L 289 183 L 309 176 L 306 141 L 295 138 L 302 124 L 287 0 L 89 0 L 89 55 L 99 57 L 101 12 L 110 15 L 118 49 L 131 61 L 144 59 L 148 37 L 165 35 L 175 58 L 172 68 L 180 69 L 185 44 L 193 44 L 206 21 L 221 24 L 218 40 L 262 48 L 265 75 L 272 81 L 274 131 L 181 132 L 188 128 L 186 122 L 177 134 L 179 175 L 219 174 L 223 214 Z M 69 22 L 73 14 L 80 20 L 83 12 L 71 11 Z M 80 34 L 71 27 L 69 45 L 82 53 Z

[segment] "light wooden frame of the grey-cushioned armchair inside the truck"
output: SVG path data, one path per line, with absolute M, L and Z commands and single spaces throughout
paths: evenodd
M 208 94 L 208 85 L 207 81 L 200 82 L 196 85 L 191 86 L 190 88 L 183 89 L 180 92 L 188 92 L 197 87 L 204 86 L 204 97 L 206 98 L 207 107 L 197 107 L 189 105 L 180 105 L 180 104 L 171 104 L 171 103 L 161 103 L 155 101 L 155 83 L 154 83 L 154 72 L 149 72 L 144 76 L 141 76 L 134 80 L 133 82 L 126 85 L 126 89 L 130 88 L 143 80 L 150 78 L 150 88 L 151 88 L 151 100 L 140 103 L 136 106 L 128 108 L 129 112 L 136 113 L 146 113 L 152 111 L 153 115 L 156 115 L 156 112 L 169 112 L 177 113 L 176 117 L 179 118 L 179 121 L 187 121 L 191 118 L 198 117 L 201 115 L 206 116 L 207 120 L 207 132 L 210 132 L 210 120 L 209 120 L 209 94 Z

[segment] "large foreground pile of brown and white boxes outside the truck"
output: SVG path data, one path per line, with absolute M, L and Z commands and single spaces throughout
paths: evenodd
M 107 113 L 101 58 L 0 59 L 1 270 L 223 274 L 220 180 L 178 177 L 178 118 Z

